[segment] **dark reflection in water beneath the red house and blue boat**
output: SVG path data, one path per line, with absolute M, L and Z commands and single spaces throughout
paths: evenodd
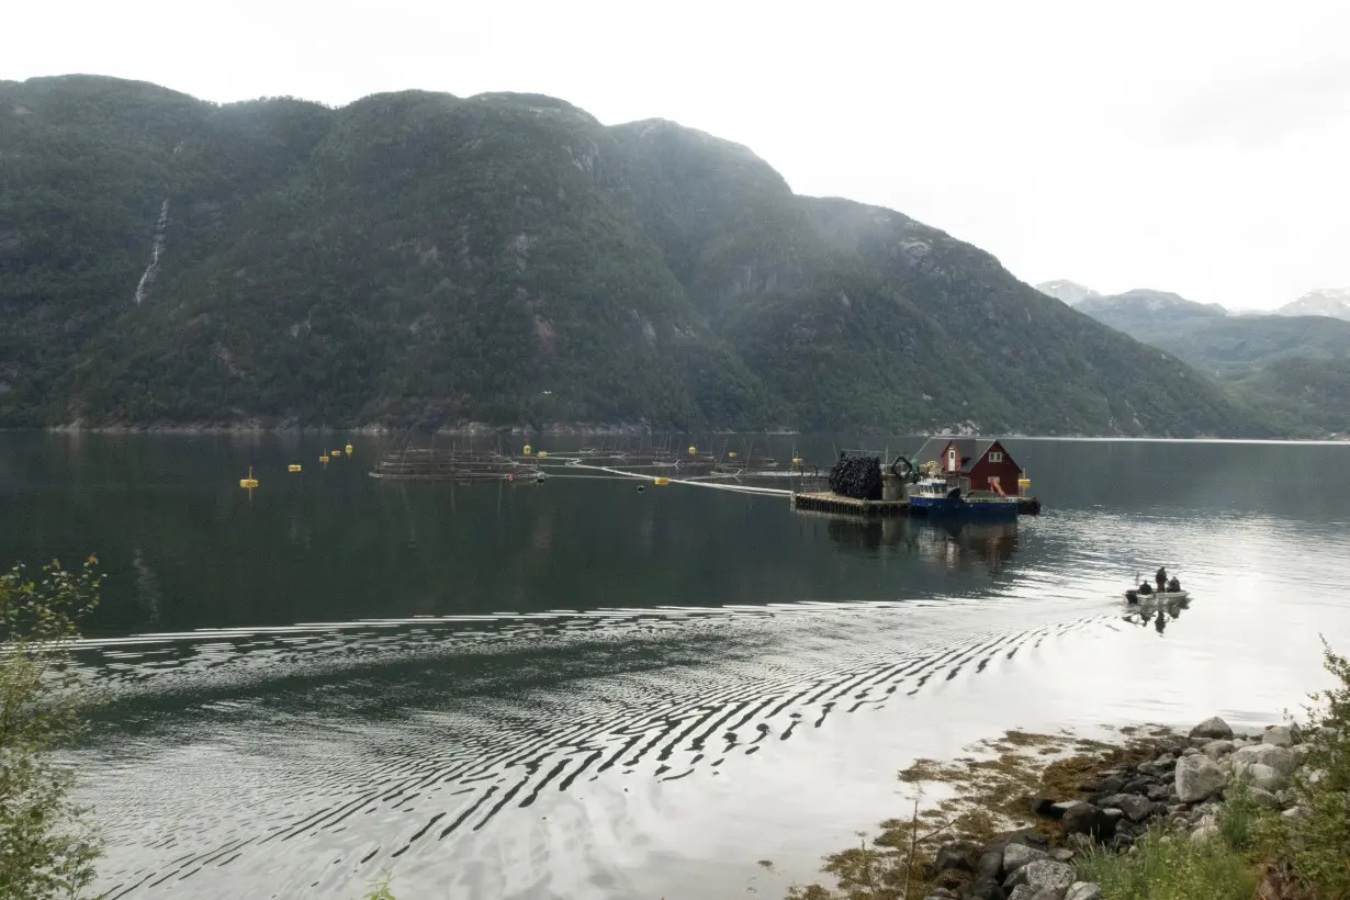
M 1017 522 L 934 522 L 906 517 L 833 517 L 828 533 L 836 549 L 861 556 L 915 555 L 948 568 L 981 564 L 1003 568 L 1017 552 Z

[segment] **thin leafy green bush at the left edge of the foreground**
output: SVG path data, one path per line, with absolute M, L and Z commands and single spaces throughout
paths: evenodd
M 97 560 L 53 561 L 36 579 L 0 575 L 0 896 L 77 896 L 99 847 L 70 799 L 74 773 L 53 752 L 78 726 L 82 692 L 66 668 L 80 621 L 99 602 Z

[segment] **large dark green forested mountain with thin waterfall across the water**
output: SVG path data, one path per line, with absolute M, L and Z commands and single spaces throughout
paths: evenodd
M 0 82 L 0 424 L 1265 434 L 745 147 L 529 94 Z

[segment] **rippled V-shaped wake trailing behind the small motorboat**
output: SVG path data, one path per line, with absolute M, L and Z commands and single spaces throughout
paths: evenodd
M 444 865 L 455 841 L 551 793 L 716 777 L 830 716 L 1110 623 L 1094 614 L 953 641 L 934 618 L 903 603 L 795 603 L 86 642 L 115 698 L 151 685 L 169 704 L 180 688 L 192 698 L 136 723 L 119 738 L 130 748 L 105 752 L 111 770 L 97 766 L 92 801 L 111 811 L 100 887 L 169 896 L 194 880 L 194 896 L 209 896 L 242 887 L 230 868 L 246 881 L 270 873 L 278 896 L 328 896 L 418 854 Z M 585 653 L 568 650 L 579 642 Z M 223 687 L 204 695 L 212 681 Z M 197 718 L 192 739 L 174 741 L 184 716 Z M 202 741 L 202 721 L 217 719 L 219 738 Z

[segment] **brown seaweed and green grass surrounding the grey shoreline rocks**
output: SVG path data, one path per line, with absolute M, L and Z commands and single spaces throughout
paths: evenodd
M 902 772 L 911 787 L 909 815 L 826 857 L 822 872 L 832 884 L 794 887 L 788 900 L 990 896 L 967 893 L 969 868 L 946 866 L 942 855 L 963 847 L 987 853 L 1010 837 L 1060 850 L 1064 861 L 1072 847 L 1068 865 L 1077 881 L 1071 897 L 1091 882 L 1103 900 L 1350 900 L 1350 663 L 1327 648 L 1326 668 L 1335 685 L 1312 695 L 1300 768 L 1278 806 L 1239 775 L 1222 799 L 1206 803 L 1199 826 L 1158 816 L 1125 843 L 1069 841 L 1061 822 L 1038 814 L 1030 799 L 1085 800 L 1095 776 L 1139 765 L 1161 746 L 1176 746 L 1177 735 L 1126 729 L 1107 743 L 1013 731 L 972 748 L 971 756 L 921 760 Z

